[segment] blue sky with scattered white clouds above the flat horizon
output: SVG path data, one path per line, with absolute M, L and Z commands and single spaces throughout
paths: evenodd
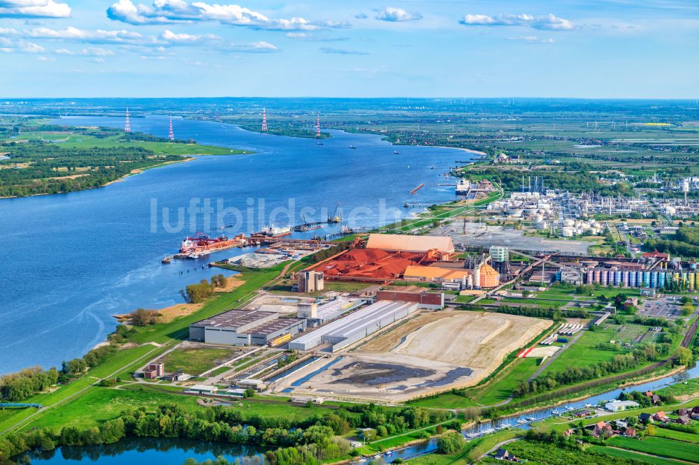
M 699 98 L 699 1 L 0 0 L 0 96 Z

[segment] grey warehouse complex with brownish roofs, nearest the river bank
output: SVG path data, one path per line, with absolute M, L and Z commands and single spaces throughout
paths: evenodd
M 231 346 L 264 346 L 303 330 L 305 320 L 301 318 L 279 318 L 279 313 L 272 311 L 230 310 L 189 325 L 189 339 Z

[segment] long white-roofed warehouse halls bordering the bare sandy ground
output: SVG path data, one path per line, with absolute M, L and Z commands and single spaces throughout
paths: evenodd
M 320 344 L 331 344 L 332 351 L 344 348 L 382 327 L 394 323 L 417 310 L 413 302 L 380 300 L 365 309 L 354 311 L 289 343 L 290 349 L 310 350 Z

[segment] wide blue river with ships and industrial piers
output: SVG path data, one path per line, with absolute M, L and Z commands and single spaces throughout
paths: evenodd
M 59 121 L 123 124 L 107 117 Z M 168 121 L 133 118 L 131 128 L 165 137 Z M 219 226 L 233 226 L 224 230 L 230 236 L 270 223 L 298 224 L 304 207 L 309 221 L 325 219 L 337 202 L 350 226 L 390 223 L 424 209 L 404 208 L 405 202 L 454 199 L 453 187 L 435 184 L 445 181 L 455 161 L 472 157 L 458 149 L 392 146 L 380 135 L 331 132 L 317 145 L 175 119 L 178 138 L 255 153 L 199 156 L 90 191 L 0 199 L 0 374 L 37 364 L 58 367 L 82 355 L 113 331 L 115 313 L 182 302 L 180 289 L 215 273 L 202 265 L 241 253 L 161 265 L 187 235 L 219 235 Z M 421 183 L 425 187 L 410 194 Z

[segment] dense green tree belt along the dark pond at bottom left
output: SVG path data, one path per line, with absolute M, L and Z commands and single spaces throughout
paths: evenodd
M 115 443 L 124 437 L 161 437 L 261 445 L 272 449 L 265 455 L 270 464 L 314 464 L 347 455 L 349 443 L 338 436 L 353 429 L 385 427 L 387 434 L 394 434 L 451 417 L 450 412 L 423 408 L 395 410 L 358 404 L 296 420 L 247 415 L 223 406 L 190 412 L 178 404 L 161 404 L 150 412 L 145 407 L 122 411 L 117 418 L 87 429 L 66 426 L 59 434 L 48 428 L 8 434 L 0 438 L 0 463 L 35 448 L 52 450 L 58 445 Z

